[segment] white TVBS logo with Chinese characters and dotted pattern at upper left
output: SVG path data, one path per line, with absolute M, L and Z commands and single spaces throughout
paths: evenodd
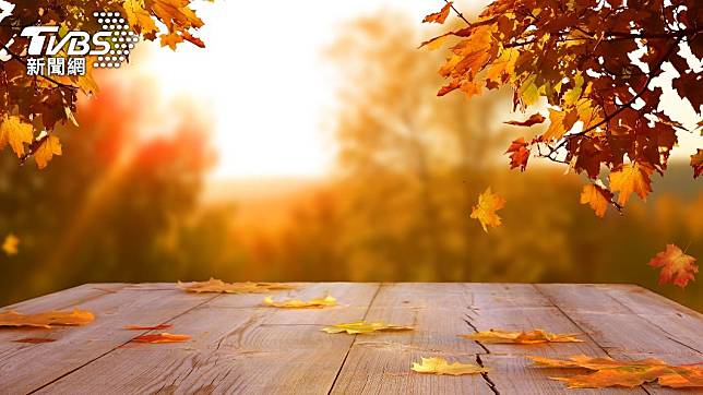
M 28 75 L 84 75 L 85 57 L 93 68 L 119 68 L 139 41 L 119 12 L 95 12 L 99 32 L 61 32 L 59 26 L 27 26 L 20 35 L 27 37 Z M 65 68 L 65 65 L 72 68 Z M 68 71 L 68 74 L 67 74 Z

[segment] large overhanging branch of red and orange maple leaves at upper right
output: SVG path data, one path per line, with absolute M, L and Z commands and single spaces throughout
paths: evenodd
M 452 7 L 448 2 L 424 22 L 443 23 Z M 457 15 L 466 27 L 422 44 L 434 49 L 458 37 L 439 70 L 448 83 L 438 95 L 473 96 L 509 85 L 513 110 L 523 112 L 546 99 L 547 130 L 511 144 L 511 168 L 525 170 L 536 154 L 585 175 L 592 183 L 581 201 L 599 216 L 608 205 L 620 210 L 632 193 L 647 196 L 652 175 L 667 168 L 677 133 L 703 133 L 703 121 L 687 129 L 664 113 L 663 89 L 653 84 L 670 63 L 678 73 L 672 88 L 703 116 L 703 76 L 694 70 L 703 58 L 699 0 L 496 0 L 476 22 Z M 534 113 L 507 123 L 546 120 Z M 691 166 L 701 176 L 703 149 Z

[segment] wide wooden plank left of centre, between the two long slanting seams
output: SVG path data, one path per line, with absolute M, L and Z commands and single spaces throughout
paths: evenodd
M 308 284 L 277 294 L 309 299 L 325 290 L 348 307 L 281 310 L 262 295 L 223 295 L 172 321 L 184 344 L 129 344 L 39 393 L 324 394 L 354 339 L 322 323 L 364 318 L 377 284 Z M 143 291 L 143 290 L 142 290 Z

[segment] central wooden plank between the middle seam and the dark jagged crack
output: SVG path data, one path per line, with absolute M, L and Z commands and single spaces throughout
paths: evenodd
M 481 375 L 437 376 L 409 370 L 421 357 L 476 363 L 482 349 L 457 338 L 472 295 L 462 284 L 384 284 L 367 321 L 413 325 L 413 332 L 337 335 L 354 344 L 334 384 L 334 394 L 492 394 Z

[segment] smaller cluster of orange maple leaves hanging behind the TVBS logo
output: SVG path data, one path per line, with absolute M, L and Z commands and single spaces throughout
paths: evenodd
M 95 12 L 114 11 L 127 17 L 131 28 L 148 40 L 176 49 L 190 41 L 204 47 L 194 36 L 203 25 L 191 9 L 192 0 L 38 0 L 16 3 L 0 26 L 0 151 L 10 146 L 24 163 L 34 157 L 40 169 L 53 155 L 61 155 L 61 143 L 53 134 L 57 124 L 78 124 L 74 113 L 80 92 L 96 94 L 93 61 L 86 60 L 85 75 L 27 75 L 28 38 L 20 35 L 27 26 L 60 26 L 59 32 L 98 32 Z M 160 27 L 159 27 L 160 26 Z M 129 59 L 129 57 L 128 57 Z

